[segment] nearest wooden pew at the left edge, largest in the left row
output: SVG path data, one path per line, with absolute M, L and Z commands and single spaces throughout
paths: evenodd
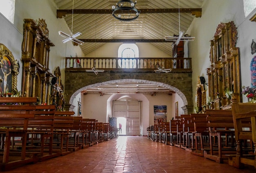
M 36 100 L 36 98 L 31 97 L 0 98 L 0 148 L 3 150 L 3 155 L 0 156 L 2 160 L 1 171 L 37 161 L 35 155 L 29 155 L 26 151 L 28 122 L 29 118 L 35 116 L 33 111 L 36 107 L 33 104 L 36 103 Z M 5 105 L 7 103 L 8 105 Z M 21 147 L 21 151 L 17 150 L 16 146 L 11 149 L 11 142 L 17 137 L 20 137 L 22 143 L 18 146 Z M 13 154 L 20 157 L 13 157 Z

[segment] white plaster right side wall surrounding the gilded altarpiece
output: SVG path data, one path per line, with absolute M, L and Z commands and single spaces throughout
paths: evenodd
M 195 18 L 187 33 L 195 37 L 195 41 L 188 42 L 189 57 L 192 58 L 192 85 L 196 90 L 198 76 L 208 77 L 206 68 L 210 66 L 209 52 L 210 40 L 213 39 L 216 28 L 220 22 L 227 23 L 234 21 L 238 30 L 238 43 L 240 48 L 240 63 L 242 85 L 250 85 L 249 67 L 253 55 L 251 54 L 252 39 L 256 39 L 256 23 L 249 21 L 255 14 L 251 13 L 245 18 L 243 11 L 243 0 L 206 0 L 202 7 L 202 17 Z M 208 95 L 208 87 L 205 85 Z M 245 97 L 243 98 L 245 101 Z M 194 105 L 196 104 L 193 94 Z

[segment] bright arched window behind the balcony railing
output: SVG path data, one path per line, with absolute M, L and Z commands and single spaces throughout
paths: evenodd
M 118 49 L 118 68 L 137 68 L 136 59 L 139 48 L 136 44 L 122 44 Z

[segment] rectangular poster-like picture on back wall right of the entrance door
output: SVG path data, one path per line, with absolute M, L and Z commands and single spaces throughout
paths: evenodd
M 166 105 L 154 105 L 154 124 L 167 122 Z

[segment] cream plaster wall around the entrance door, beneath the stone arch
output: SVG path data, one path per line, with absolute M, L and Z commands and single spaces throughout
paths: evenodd
M 154 105 L 167 106 L 167 122 L 175 116 L 172 96 L 168 94 L 156 94 L 156 96 L 151 96 L 151 94 L 103 94 L 103 96 L 86 94 L 81 96 L 83 118 L 95 118 L 99 122 L 108 122 L 108 118 L 113 114 L 113 101 L 124 96 L 130 97 L 130 100 L 141 101 L 141 134 L 143 136 L 147 135 L 146 128 L 154 124 Z

